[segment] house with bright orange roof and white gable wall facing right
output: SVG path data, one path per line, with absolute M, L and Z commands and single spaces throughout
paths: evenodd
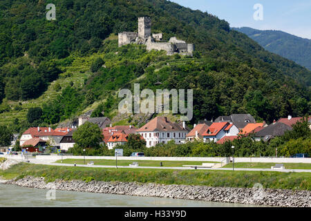
M 230 124 L 229 122 L 216 122 L 211 124 L 202 135 L 204 142 L 217 142 L 223 137 L 236 136 L 238 133 L 238 128 L 234 124 Z

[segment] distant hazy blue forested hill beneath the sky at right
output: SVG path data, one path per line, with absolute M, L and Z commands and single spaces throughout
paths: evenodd
M 311 70 L 311 39 L 303 39 L 279 30 L 234 28 L 257 41 L 266 50 L 274 52 Z

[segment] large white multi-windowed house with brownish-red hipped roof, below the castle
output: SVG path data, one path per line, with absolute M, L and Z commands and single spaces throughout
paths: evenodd
M 146 146 L 156 146 L 156 144 L 167 144 L 174 140 L 176 144 L 185 143 L 188 129 L 185 122 L 182 126 L 171 122 L 167 117 L 155 117 L 150 122 L 136 131 L 146 140 Z

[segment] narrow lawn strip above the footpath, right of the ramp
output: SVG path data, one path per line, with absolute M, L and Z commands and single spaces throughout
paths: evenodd
M 311 169 L 311 164 L 303 164 L 303 163 L 285 163 L 283 164 L 285 169 Z M 265 169 L 271 168 L 271 166 L 275 166 L 275 163 L 235 163 L 234 167 L 236 168 L 258 168 Z M 232 168 L 232 164 L 226 164 L 223 168 Z

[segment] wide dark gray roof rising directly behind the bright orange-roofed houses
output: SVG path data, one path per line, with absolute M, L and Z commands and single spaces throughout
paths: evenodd
M 241 113 L 217 117 L 215 122 L 232 122 L 237 128 L 244 128 L 249 123 L 256 123 L 256 120 L 249 113 Z

